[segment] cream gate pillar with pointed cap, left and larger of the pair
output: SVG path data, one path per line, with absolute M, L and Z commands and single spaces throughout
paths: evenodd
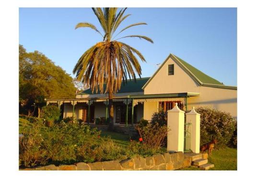
M 168 111 L 167 117 L 167 150 L 184 151 L 184 115 L 185 111 L 179 109 L 178 104 Z

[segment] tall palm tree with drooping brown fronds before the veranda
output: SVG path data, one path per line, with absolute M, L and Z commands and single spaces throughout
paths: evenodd
M 117 40 L 138 37 L 153 43 L 150 38 L 142 35 L 129 35 L 115 39 L 118 34 L 130 27 L 147 24 L 145 22 L 130 24 L 116 33 L 116 29 L 120 23 L 130 16 L 130 14 L 124 15 L 126 9 L 117 11 L 117 8 L 93 8 L 93 12 L 100 22 L 103 33 L 88 22 L 78 23 L 75 27 L 75 29 L 89 27 L 103 37 L 102 42 L 97 42 L 82 54 L 73 69 L 73 74 L 76 74 L 77 80 L 90 85 L 92 92 L 95 91 L 97 93 L 99 89 L 101 94 L 108 93 L 110 130 L 114 129 L 113 94 L 120 89 L 122 81 L 127 82 L 128 77 L 129 79 L 133 78 L 136 80 L 136 73 L 139 76 L 141 75 L 140 63 L 135 55 L 142 62 L 146 62 L 138 50 Z M 116 35 L 114 36 L 114 34 Z

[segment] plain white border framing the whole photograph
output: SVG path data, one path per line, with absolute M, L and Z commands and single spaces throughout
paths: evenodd
M 9 0 L 0 6 L 0 190 L 252 190 L 255 171 L 255 6 L 250 0 Z M 238 7 L 238 171 L 18 171 L 19 7 Z M 227 71 L 228 73 L 228 71 Z

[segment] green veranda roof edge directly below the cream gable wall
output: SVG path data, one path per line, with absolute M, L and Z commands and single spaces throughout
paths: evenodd
M 140 99 L 140 98 L 186 97 L 186 96 L 199 96 L 199 93 L 187 92 L 187 93 L 175 93 L 175 94 L 147 94 L 147 95 L 128 96 L 128 98 Z

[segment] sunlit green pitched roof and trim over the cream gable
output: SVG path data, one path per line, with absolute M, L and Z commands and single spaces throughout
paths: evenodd
M 181 58 L 179 58 L 178 56 L 175 56 L 172 53 L 165 59 L 163 64 L 161 64 L 161 66 L 152 75 L 152 77 L 148 80 L 148 82 L 142 87 L 142 89 L 144 89 L 150 83 L 150 81 L 153 79 L 153 77 L 158 73 L 158 71 L 163 67 L 163 65 L 169 58 L 173 59 L 175 61 L 175 63 L 178 64 L 198 85 L 224 88 L 224 89 L 237 89 L 237 87 L 235 87 L 235 86 L 223 85 L 218 80 L 210 77 L 207 74 L 204 74 L 203 72 L 201 72 L 194 66 L 188 64 L 186 61 L 182 60 Z

